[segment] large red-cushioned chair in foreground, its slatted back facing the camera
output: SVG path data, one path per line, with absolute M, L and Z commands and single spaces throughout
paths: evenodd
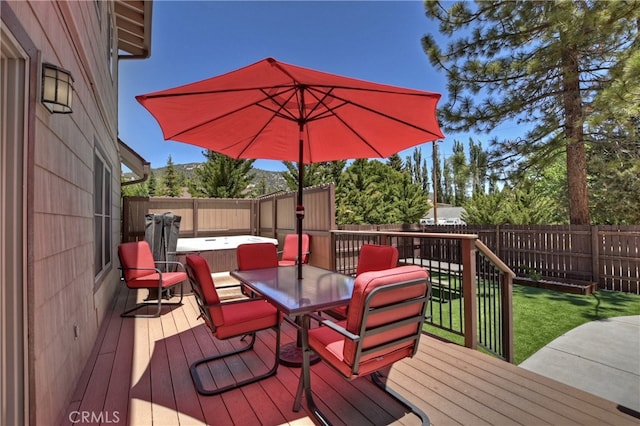
M 324 327 L 307 331 L 308 345 L 303 354 L 294 411 L 299 411 L 304 391 L 308 409 L 321 424 L 330 424 L 315 405 L 311 393 L 310 356 L 315 352 L 347 380 L 370 375 L 378 387 L 428 425 L 429 417 L 390 389 L 380 373 L 395 362 L 415 355 L 431 293 L 428 278 L 423 268 L 414 265 L 358 276 L 347 319 L 338 323 L 322 320 Z M 303 336 L 303 342 L 304 339 Z M 326 398 L 323 400 L 328 404 Z

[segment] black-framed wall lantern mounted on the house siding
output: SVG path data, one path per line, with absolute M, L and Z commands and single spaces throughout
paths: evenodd
M 52 64 L 42 64 L 42 104 L 52 114 L 70 114 L 73 96 L 71 73 Z

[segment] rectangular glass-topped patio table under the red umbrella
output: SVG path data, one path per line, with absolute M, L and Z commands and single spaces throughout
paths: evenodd
M 307 314 L 336 308 L 349 303 L 355 278 L 308 264 L 302 265 L 302 279 L 297 266 L 232 271 L 231 276 L 247 285 L 275 305 L 280 311 L 296 317 L 299 327 L 309 327 Z M 298 341 L 280 349 L 280 363 L 302 365 L 301 331 Z

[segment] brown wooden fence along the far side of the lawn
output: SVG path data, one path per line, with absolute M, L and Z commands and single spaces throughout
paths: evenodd
M 400 230 L 401 225 L 344 226 Z M 640 294 L 639 225 L 437 225 L 429 233 L 476 234 L 519 277 L 597 283 L 601 290 Z

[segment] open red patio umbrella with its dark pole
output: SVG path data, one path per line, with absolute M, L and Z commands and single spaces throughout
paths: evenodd
M 304 164 L 385 158 L 444 135 L 440 94 L 372 83 L 267 58 L 206 80 L 136 96 L 165 140 L 233 158 L 298 162 L 298 248 Z M 302 267 L 298 276 L 302 278 Z

